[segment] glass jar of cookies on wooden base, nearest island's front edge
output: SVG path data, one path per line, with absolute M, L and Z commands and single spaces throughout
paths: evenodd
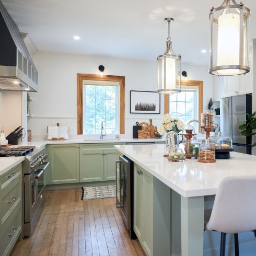
M 199 162 L 216 162 L 215 159 L 215 143 L 203 142 L 199 145 Z

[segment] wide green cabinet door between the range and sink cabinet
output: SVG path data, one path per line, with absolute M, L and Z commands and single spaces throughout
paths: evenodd
M 51 168 L 46 184 L 79 182 L 79 144 L 48 145 Z

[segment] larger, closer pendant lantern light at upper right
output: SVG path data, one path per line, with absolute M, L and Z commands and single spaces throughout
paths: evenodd
M 249 67 L 250 9 L 242 2 L 224 0 L 210 12 L 211 59 L 209 73 L 218 76 L 246 74 Z

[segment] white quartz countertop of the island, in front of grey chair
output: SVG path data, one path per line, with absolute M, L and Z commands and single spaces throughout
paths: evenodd
M 216 194 L 225 177 L 256 176 L 256 156 L 231 152 L 231 158 L 204 164 L 195 159 L 170 162 L 165 145 L 117 145 L 117 150 L 184 197 Z

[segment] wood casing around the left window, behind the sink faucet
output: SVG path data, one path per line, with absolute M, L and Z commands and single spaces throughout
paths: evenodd
M 125 77 L 92 74 L 77 74 L 77 134 L 83 134 L 83 80 L 119 82 L 119 132 L 124 134 Z

